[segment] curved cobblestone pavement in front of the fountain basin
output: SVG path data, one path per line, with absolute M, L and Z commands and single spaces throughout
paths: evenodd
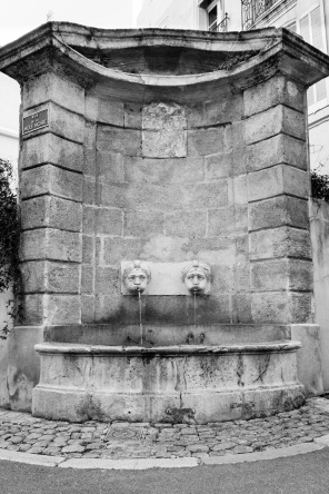
M 329 401 L 298 411 L 207 425 L 54 422 L 0 411 L 0 448 L 66 458 L 223 456 L 312 443 L 329 434 Z

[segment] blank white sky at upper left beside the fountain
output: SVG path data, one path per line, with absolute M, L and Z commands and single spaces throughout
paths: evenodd
M 0 47 L 48 20 L 133 28 L 141 4 L 142 0 L 0 0 Z M 0 127 L 18 131 L 19 103 L 19 85 L 0 72 Z

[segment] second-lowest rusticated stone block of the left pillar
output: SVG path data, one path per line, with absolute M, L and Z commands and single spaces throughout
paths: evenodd
M 21 265 L 24 293 L 78 294 L 80 285 L 79 265 L 51 263 L 48 260 Z

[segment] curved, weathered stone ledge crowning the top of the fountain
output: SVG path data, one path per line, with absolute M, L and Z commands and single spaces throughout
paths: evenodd
M 181 90 L 233 77 L 239 90 L 236 79 L 246 83 L 249 73 L 259 80 L 273 71 L 310 86 L 329 73 L 329 57 L 285 28 L 213 33 L 70 22 L 48 22 L 0 49 L 0 71 L 20 82 L 60 67 L 86 87 L 120 81 Z

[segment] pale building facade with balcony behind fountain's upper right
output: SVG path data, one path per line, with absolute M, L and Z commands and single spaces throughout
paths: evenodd
M 161 3 L 161 4 L 160 4 Z M 285 27 L 328 53 L 327 0 L 144 0 L 138 27 L 241 31 Z M 310 164 L 329 174 L 329 82 L 308 91 Z

